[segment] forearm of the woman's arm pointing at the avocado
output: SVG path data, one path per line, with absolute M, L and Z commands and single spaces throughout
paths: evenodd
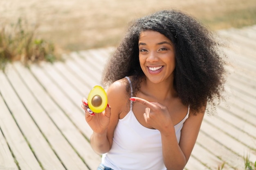
M 177 142 L 174 127 L 168 135 L 161 134 L 161 137 L 164 165 L 168 170 L 183 170 L 186 157 Z

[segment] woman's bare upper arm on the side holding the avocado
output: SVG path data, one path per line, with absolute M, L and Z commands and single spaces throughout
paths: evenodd
M 108 126 L 107 137 L 110 148 L 113 142 L 115 127 L 119 120 L 119 114 L 123 111 L 127 102 L 126 81 L 124 79 L 115 81 L 107 90 L 108 104 L 111 108 L 110 124 Z

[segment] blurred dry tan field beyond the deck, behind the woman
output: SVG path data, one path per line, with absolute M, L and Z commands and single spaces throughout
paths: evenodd
M 255 0 L 0 0 L 0 28 L 20 18 L 63 51 L 117 46 L 129 23 L 179 9 L 212 30 L 256 24 Z

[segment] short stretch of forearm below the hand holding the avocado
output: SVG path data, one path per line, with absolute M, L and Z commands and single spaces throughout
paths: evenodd
M 107 153 L 110 150 L 110 142 L 108 141 L 107 132 L 93 133 L 90 139 L 92 149 L 99 155 Z

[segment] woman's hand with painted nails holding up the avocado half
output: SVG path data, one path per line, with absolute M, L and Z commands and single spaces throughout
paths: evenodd
M 107 105 L 106 109 L 101 113 L 93 113 L 88 107 L 86 98 L 82 98 L 81 107 L 85 111 L 85 120 L 92 128 L 94 133 L 102 134 L 106 133 L 110 122 L 111 108 Z

